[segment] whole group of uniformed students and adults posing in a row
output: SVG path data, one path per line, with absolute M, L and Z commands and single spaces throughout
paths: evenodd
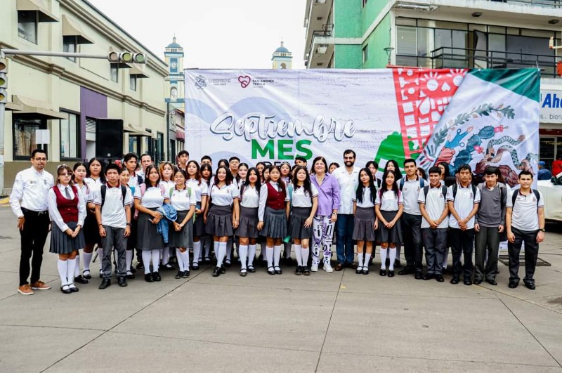
M 42 150 L 34 150 L 31 162 L 30 169 L 16 176 L 11 195 L 22 235 L 21 294 L 49 288 L 39 280 L 49 222 L 50 251 L 58 254 L 64 294 L 78 292 L 75 283 L 91 280 L 96 245 L 102 263 L 100 289 L 110 286 L 113 263 L 117 283 L 126 287 L 136 269 L 144 270 L 145 281 L 160 281 L 161 269 L 175 270 L 173 256 L 178 264 L 176 278 L 187 278 L 190 269 L 211 263 L 211 250 L 216 257 L 212 275 L 218 277 L 232 266 L 233 247 L 244 277 L 256 272 L 258 244 L 259 260 L 266 262 L 270 275 L 282 274 L 282 259 L 292 263 L 292 249 L 296 275 L 318 271 L 320 252 L 328 273 L 348 267 L 367 275 L 374 247 L 380 245 L 379 275 L 394 276 L 394 268 L 401 267 L 403 246 L 406 265 L 398 274 L 439 282 L 444 281 L 451 247 L 452 284 L 461 275 L 467 285 L 483 280 L 497 284 L 497 254 L 504 234 L 509 240 L 509 287 L 519 282 L 519 251 L 525 242 L 523 281 L 529 289 L 535 288 L 538 243 L 544 239 L 544 202 L 540 192 L 530 188 L 529 171 L 521 171 L 521 188 L 511 191 L 494 166 L 485 169 L 484 183 L 474 185 L 469 165 L 459 166 L 457 174 L 450 176 L 449 165 L 442 162 L 429 169 L 428 181 L 414 159 L 405 160 L 405 176 L 396 161 L 386 162 L 379 180 L 377 162 L 354 166 L 353 150 L 344 152 L 344 166 L 328 165 L 324 157 L 316 157 L 310 174 L 302 157 L 293 166 L 259 162 L 255 167 L 231 157 L 221 159 L 213 169 L 211 157 L 198 163 L 185 150 L 178 154 L 176 165 L 155 166 L 150 155 L 138 159 L 133 153 L 107 165 L 97 158 L 88 164 L 77 162 L 72 169 L 62 164 L 55 179 L 44 171 Z M 30 223 L 38 228 L 32 230 Z M 337 264 L 332 268 L 334 236 Z

